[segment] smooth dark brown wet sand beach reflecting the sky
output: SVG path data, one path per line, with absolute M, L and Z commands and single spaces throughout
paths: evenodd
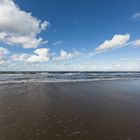
M 0 140 L 140 140 L 140 80 L 0 84 Z

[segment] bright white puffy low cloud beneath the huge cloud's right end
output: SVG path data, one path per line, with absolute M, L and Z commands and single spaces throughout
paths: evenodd
M 41 63 L 48 62 L 50 60 L 50 54 L 48 48 L 36 49 L 34 51 L 35 55 L 28 57 L 25 62 L 29 63 Z

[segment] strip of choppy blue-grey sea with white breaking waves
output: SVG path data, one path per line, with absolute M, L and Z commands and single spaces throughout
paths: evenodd
M 140 72 L 0 72 L 0 83 L 140 79 Z

